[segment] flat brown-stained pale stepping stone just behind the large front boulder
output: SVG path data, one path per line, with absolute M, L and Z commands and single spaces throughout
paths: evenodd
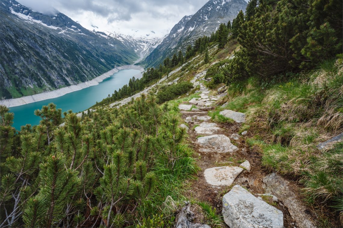
M 214 167 L 206 169 L 204 177 L 212 186 L 230 186 L 242 171 L 243 169 L 237 166 Z

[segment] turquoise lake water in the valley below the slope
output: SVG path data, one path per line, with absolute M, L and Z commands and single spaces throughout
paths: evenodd
M 34 111 L 36 109 L 41 109 L 43 105 L 49 103 L 56 104 L 57 108 L 62 109 L 62 113 L 70 109 L 73 110 L 73 112 L 84 111 L 93 106 L 96 102 L 100 102 L 107 97 L 108 94 L 112 95 L 115 90 L 118 91 L 123 85 L 129 83 L 130 78 L 139 73 L 139 70 L 133 69 L 120 70 L 109 78 L 104 79 L 98 85 L 67 93 L 60 97 L 11 107 L 9 108 L 10 111 L 14 112 L 13 126 L 15 129 L 20 130 L 20 126 L 27 123 L 37 125 L 40 118 L 34 115 Z

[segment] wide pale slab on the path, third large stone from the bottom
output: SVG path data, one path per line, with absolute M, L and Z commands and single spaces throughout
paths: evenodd
M 196 144 L 199 145 L 199 151 L 202 152 L 235 152 L 238 148 L 230 142 L 225 135 L 210 135 L 199 137 Z

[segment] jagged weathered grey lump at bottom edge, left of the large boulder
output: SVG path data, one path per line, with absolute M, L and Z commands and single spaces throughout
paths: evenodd
M 187 202 L 185 207 L 176 216 L 175 228 L 211 228 L 209 225 L 192 223 L 194 213 L 190 210 L 190 204 Z

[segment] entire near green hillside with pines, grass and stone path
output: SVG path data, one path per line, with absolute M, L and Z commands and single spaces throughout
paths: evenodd
M 250 0 L 88 111 L 0 106 L 0 226 L 342 227 L 341 9 Z

